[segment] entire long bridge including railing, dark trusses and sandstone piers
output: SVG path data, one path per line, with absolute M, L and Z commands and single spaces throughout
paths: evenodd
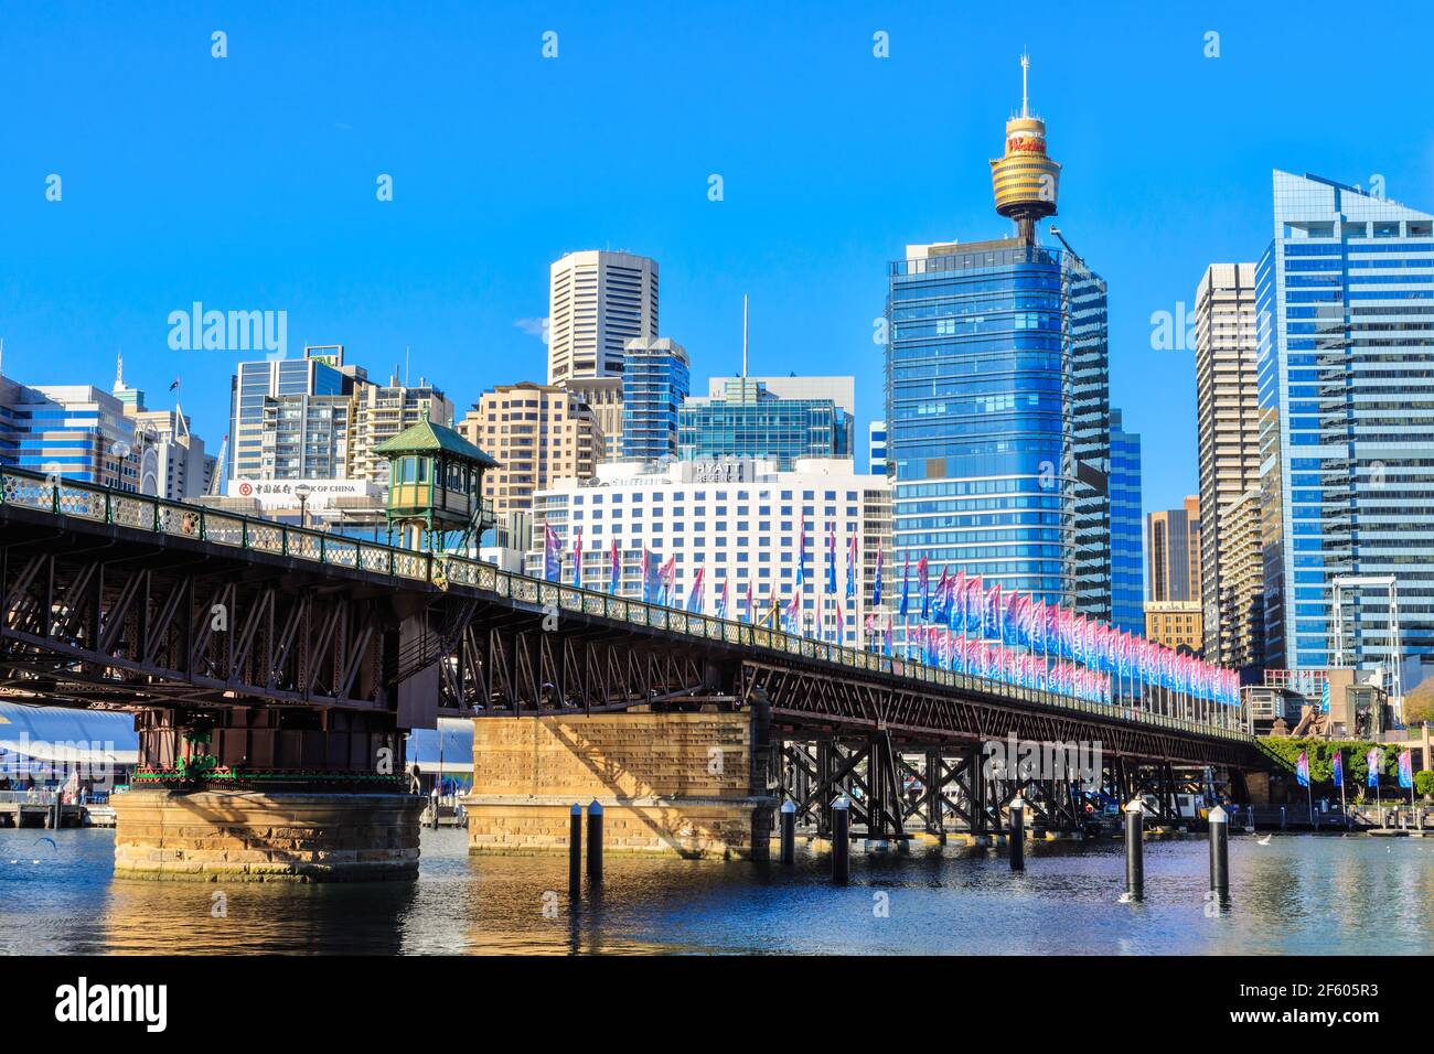
M 827 833 L 843 793 L 872 839 L 979 839 L 1017 793 L 1037 827 L 1078 829 L 1068 767 L 985 764 L 1011 736 L 1098 744 L 1103 789 L 1167 819 L 1212 776 L 1246 800 L 1265 767 L 1235 707 L 1091 703 L 9 469 L 0 588 L 9 694 L 136 714 L 112 799 L 130 875 L 414 875 L 404 731 L 439 716 L 475 718 L 479 850 L 562 849 L 594 797 L 609 850 L 764 859 L 784 797 Z

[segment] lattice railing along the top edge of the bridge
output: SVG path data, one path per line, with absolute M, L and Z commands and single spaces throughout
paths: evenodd
M 817 641 L 749 622 L 718 619 L 713 615 L 658 607 L 630 597 L 611 597 L 592 589 L 545 582 L 465 556 L 416 552 L 381 542 L 333 535 L 326 531 L 241 516 L 202 505 L 186 505 L 72 479 L 40 476 L 22 469 L 0 469 L 0 505 L 19 505 L 60 516 L 76 516 L 98 523 L 194 538 L 215 545 L 354 568 L 443 588 L 460 584 L 528 604 L 555 605 L 562 611 L 581 611 L 632 625 L 645 625 L 747 648 L 780 651 L 853 670 L 895 674 L 945 688 L 995 693 L 1004 698 L 1034 706 L 1229 740 L 1248 741 L 1250 739 L 1243 728 L 1238 727 L 1240 723 L 1238 707 L 1220 707 L 1216 720 L 1190 721 L 1136 706 L 1094 703 L 1076 695 L 974 677 L 954 670 L 929 667 L 919 661 L 880 655 L 863 648 Z

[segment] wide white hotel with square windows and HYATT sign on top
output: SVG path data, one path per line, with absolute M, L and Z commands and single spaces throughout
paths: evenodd
M 850 457 L 799 459 L 792 472 L 777 472 L 774 462 L 746 459 L 671 462 L 661 467 L 609 462 L 598 466 L 595 479 L 564 480 L 535 495 L 529 575 L 543 572 L 545 523 L 561 541 L 565 584 L 572 582 L 572 549 L 581 528 L 587 588 L 608 589 L 617 541 L 618 595 L 642 597 L 647 549 L 652 559 L 674 561 L 671 607 L 685 608 L 701 569 L 704 614 L 717 614 L 726 587 L 727 618 L 746 619 L 750 585 L 757 621 L 770 618 L 773 604 L 792 599 L 804 528 L 804 631 L 860 647 L 870 642 L 865 617 L 872 609 L 878 541 L 885 559 L 891 559 L 891 483 L 883 476 L 856 473 Z M 835 592 L 827 571 L 832 536 Z M 859 559 L 853 568 L 855 595 L 847 598 L 853 538 Z M 889 598 L 901 587 L 889 562 L 883 578 L 882 608 L 889 609 Z

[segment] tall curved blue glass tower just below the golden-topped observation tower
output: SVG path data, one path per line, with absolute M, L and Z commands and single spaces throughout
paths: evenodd
M 1108 619 L 1104 283 L 1021 238 L 912 245 L 888 330 L 892 565 L 925 555 Z M 1136 539 L 1139 575 L 1139 512 Z

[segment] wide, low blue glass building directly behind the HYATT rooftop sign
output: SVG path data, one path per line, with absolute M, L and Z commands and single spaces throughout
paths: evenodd
M 757 457 L 787 470 L 797 457 L 850 457 L 852 420 L 832 399 L 783 399 L 730 377 L 721 396 L 683 403 L 677 443 L 683 460 Z

